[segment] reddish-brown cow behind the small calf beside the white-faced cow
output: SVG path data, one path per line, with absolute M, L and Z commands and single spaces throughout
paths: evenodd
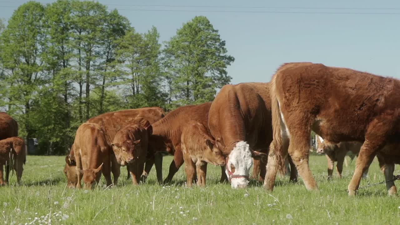
M 210 106 L 211 102 L 182 106 L 168 113 L 168 115 L 160 121 L 152 124 L 153 134 L 150 135 L 148 151 L 156 156 L 155 166 L 159 183 L 162 182 L 162 156 L 159 153 L 168 152 L 169 154 L 174 155 L 174 160 L 170 165 L 168 177 L 164 180 L 164 183 L 168 183 L 184 163 L 181 143 L 182 130 L 184 126 L 189 122 L 198 122 L 209 130 L 207 120 Z M 150 163 L 146 162 L 144 169 L 146 173 L 150 172 L 151 166 Z M 224 175 L 225 173 L 222 169 L 222 176 Z

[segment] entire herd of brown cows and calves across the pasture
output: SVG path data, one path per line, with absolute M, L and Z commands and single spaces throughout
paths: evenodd
M 0 182 L 6 164 L 18 182 L 25 163 L 18 125 L 0 114 Z M 153 165 L 162 183 L 162 156 L 174 156 L 164 183 L 185 163 L 187 186 L 206 184 L 207 164 L 221 167 L 221 182 L 233 188 L 252 177 L 272 191 L 280 171 L 290 180 L 303 179 L 318 189 L 309 168 L 310 133 L 317 135 L 317 152 L 326 153 L 328 179 L 334 162 L 341 176 L 345 155 L 358 155 L 349 195 L 377 156 L 386 180 L 400 163 L 400 80 L 347 68 L 309 62 L 287 63 L 269 83 L 225 85 L 212 102 L 182 106 L 166 113 L 159 107 L 108 112 L 89 119 L 76 131 L 64 173 L 68 187 L 90 189 L 101 173 L 106 185 L 117 185 L 126 166 L 133 185 L 144 182 Z M 268 162 L 268 163 L 267 163 Z M 290 167 L 290 169 L 289 169 Z M 111 180 L 111 173 L 114 181 Z M 394 181 L 386 182 L 396 195 Z

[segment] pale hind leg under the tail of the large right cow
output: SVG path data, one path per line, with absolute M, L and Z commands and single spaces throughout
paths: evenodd
M 264 179 L 264 188 L 268 191 L 273 191 L 275 185 L 276 174 L 278 173 L 278 159 L 275 155 L 275 145 L 278 145 L 276 141 L 272 141 L 270 144 L 270 151 L 268 152 L 268 163 L 266 166 L 266 175 Z M 276 146 L 282 148 L 282 157 L 286 157 L 288 153 L 289 138 L 286 136 L 282 137 L 282 146 Z

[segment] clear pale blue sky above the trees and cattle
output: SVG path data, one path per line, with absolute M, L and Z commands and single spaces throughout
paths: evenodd
M 0 17 L 10 18 L 23 0 L 0 0 Z M 52 1 L 40 1 L 48 3 Z M 268 82 L 284 62 L 318 62 L 354 68 L 382 76 L 400 78 L 399 0 L 99 0 L 117 8 L 139 32 L 156 26 L 161 40 L 168 40 L 183 23 L 204 15 L 226 40 L 235 62 L 228 68 L 232 83 Z M 114 5 L 112 5 L 114 4 Z M 132 5 L 174 5 L 144 7 Z M 272 8 L 188 8 L 176 6 L 254 6 L 312 8 L 397 8 L 369 9 L 272 9 Z M 206 11 L 291 11 L 291 12 L 383 12 L 398 14 L 277 14 L 240 12 L 163 12 L 142 10 Z

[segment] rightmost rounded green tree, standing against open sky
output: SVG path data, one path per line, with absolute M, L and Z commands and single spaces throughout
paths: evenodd
M 210 101 L 216 88 L 230 82 L 226 67 L 234 58 L 226 53 L 225 41 L 205 16 L 196 16 L 178 29 L 164 50 L 178 104 Z

